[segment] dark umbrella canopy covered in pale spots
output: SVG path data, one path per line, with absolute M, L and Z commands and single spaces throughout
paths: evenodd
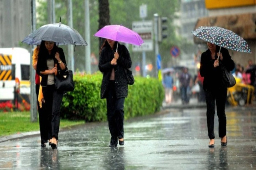
M 233 31 L 221 27 L 199 27 L 192 31 L 195 37 L 220 47 L 252 53 L 247 42 Z

